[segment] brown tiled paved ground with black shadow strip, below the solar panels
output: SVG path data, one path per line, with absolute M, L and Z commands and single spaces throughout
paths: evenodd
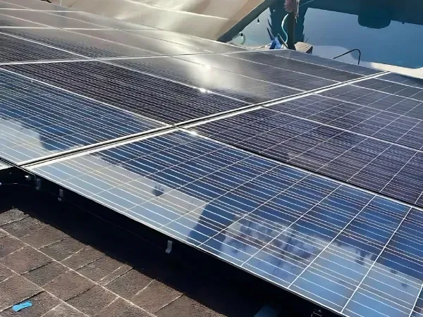
M 179 265 L 115 225 L 0 192 L 1 317 L 249 317 L 250 290 Z M 18 208 L 16 208 L 18 207 Z M 13 304 L 33 306 L 16 313 Z

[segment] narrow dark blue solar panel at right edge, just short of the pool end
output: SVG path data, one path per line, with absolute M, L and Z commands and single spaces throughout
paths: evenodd
M 411 87 L 408 85 L 398 84 L 396 82 L 388 82 L 376 78 L 364 80 L 355 83 L 356 86 L 387 92 L 388 94 L 396 94 L 401 97 L 407 97 L 423 101 L 423 89 L 419 87 Z

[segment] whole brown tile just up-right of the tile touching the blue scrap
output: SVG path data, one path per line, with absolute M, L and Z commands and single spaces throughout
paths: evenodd
M 60 275 L 56 280 L 44 285 L 44 290 L 51 292 L 54 296 L 67 301 L 76 295 L 89 290 L 94 283 L 73 271 Z

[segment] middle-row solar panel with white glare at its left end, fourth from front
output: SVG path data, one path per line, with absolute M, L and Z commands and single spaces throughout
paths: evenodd
M 250 54 L 250 53 L 245 53 Z M 233 54 L 231 54 L 232 56 Z M 236 54 L 238 56 L 238 54 Z M 332 80 L 306 75 L 304 73 L 281 70 L 266 65 L 243 61 L 220 54 L 206 54 L 193 56 L 178 56 L 178 58 L 207 67 L 219 68 L 232 73 L 257 78 L 266 82 L 274 82 L 295 89 L 311 90 L 336 84 Z

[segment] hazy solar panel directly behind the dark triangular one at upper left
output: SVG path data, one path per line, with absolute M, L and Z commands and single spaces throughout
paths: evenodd
M 136 47 L 60 29 L 7 29 L 4 32 L 90 58 L 155 55 L 150 51 L 137 49 Z

